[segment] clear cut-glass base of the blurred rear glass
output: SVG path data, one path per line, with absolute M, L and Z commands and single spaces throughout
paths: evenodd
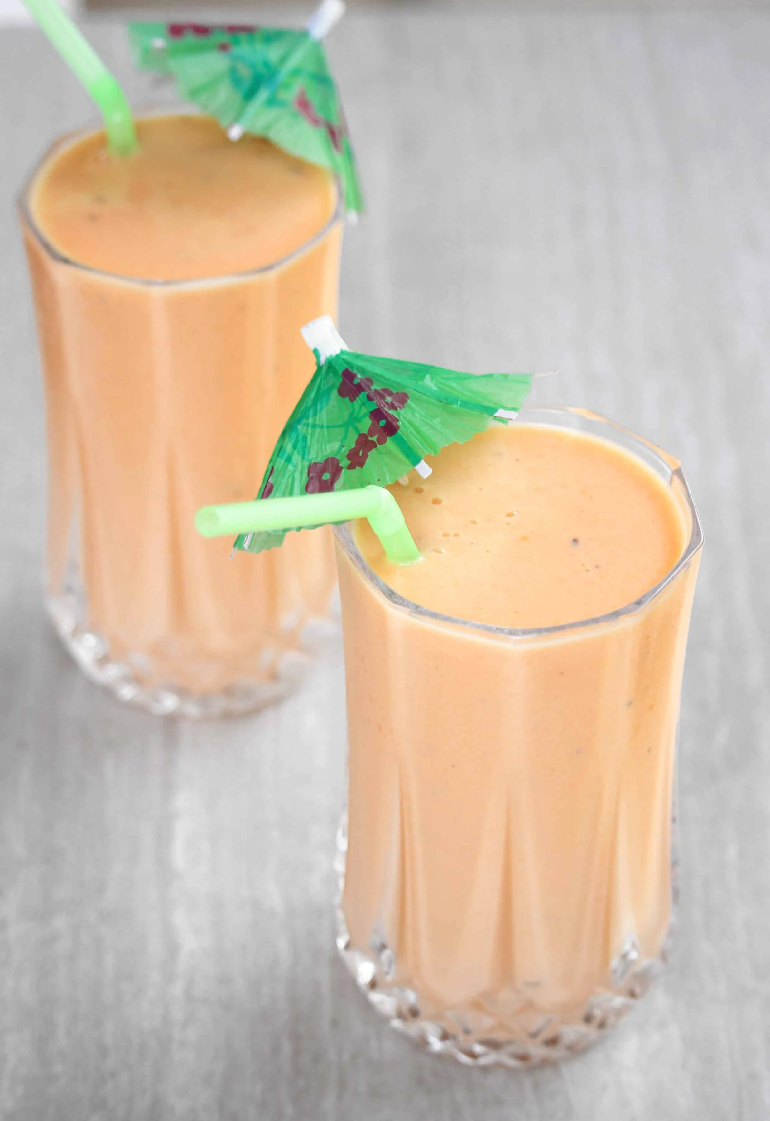
M 271 680 L 244 679 L 222 693 L 195 694 L 173 683 L 143 683 L 128 661 L 114 659 L 108 640 L 85 626 L 75 593 L 46 599 L 46 609 L 56 633 L 90 680 L 109 689 L 119 701 L 155 716 L 186 720 L 242 716 L 284 700 L 304 679 L 318 646 L 336 632 L 333 621 L 310 619 L 301 630 L 300 649 L 286 650 L 277 657 Z

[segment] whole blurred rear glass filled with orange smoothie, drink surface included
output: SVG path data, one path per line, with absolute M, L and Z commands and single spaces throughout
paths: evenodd
M 334 583 L 328 535 L 238 555 L 193 529 L 252 499 L 313 372 L 299 327 L 336 316 L 342 222 L 323 168 L 192 114 L 112 156 L 65 139 L 22 200 L 46 381 L 48 597 L 120 696 L 256 707 L 301 659 Z M 244 606 L 248 605 L 248 606 Z

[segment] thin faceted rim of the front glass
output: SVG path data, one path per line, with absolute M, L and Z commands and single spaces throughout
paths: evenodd
M 537 415 L 544 416 L 545 419 L 537 420 Z M 513 640 L 527 640 L 535 638 L 542 638 L 548 636 L 564 636 L 568 637 L 570 631 L 585 631 L 586 629 L 597 629 L 605 627 L 610 623 L 619 622 L 620 620 L 628 618 L 630 615 L 636 615 L 643 611 L 653 600 L 656 600 L 666 587 L 671 584 L 680 572 L 689 567 L 690 562 L 701 550 L 703 546 L 703 527 L 701 525 L 701 519 L 698 517 L 698 511 L 695 506 L 695 500 L 689 489 L 689 484 L 678 461 L 672 461 L 667 458 L 666 453 L 661 448 L 646 441 L 642 436 L 637 436 L 630 429 L 624 428 L 622 425 L 615 424 L 614 420 L 609 420 L 606 417 L 601 416 L 599 413 L 592 413 L 588 409 L 573 408 L 569 406 L 556 406 L 556 405 L 544 405 L 544 406 L 532 406 L 530 408 L 522 408 L 519 414 L 519 419 L 523 423 L 540 424 L 542 427 L 555 427 L 555 428 L 567 428 L 570 427 L 573 430 L 581 430 L 578 424 L 558 424 L 554 423 L 558 419 L 570 418 L 573 421 L 578 419 L 587 419 L 592 421 L 596 427 L 602 427 L 611 432 L 619 434 L 624 441 L 624 444 L 620 442 L 607 441 L 607 443 L 614 443 L 614 446 L 623 446 L 630 454 L 637 454 L 637 457 L 647 463 L 653 470 L 657 467 L 658 474 L 665 478 L 668 485 L 670 487 L 672 480 L 677 480 L 680 484 L 681 493 L 685 498 L 687 510 L 692 519 L 692 529 L 689 540 L 681 552 L 676 564 L 669 568 L 665 576 L 658 581 L 652 587 L 650 587 L 643 595 L 633 600 L 631 603 L 623 604 L 621 608 L 616 608 L 614 611 L 607 611 L 602 615 L 593 615 L 588 619 L 576 619 L 574 622 L 569 623 L 557 623 L 553 627 L 529 627 L 529 628 L 513 628 L 513 627 L 498 627 L 494 623 L 480 623 L 474 622 L 471 619 L 460 619 L 454 615 L 446 615 L 439 611 L 433 611 L 430 608 L 423 606 L 420 603 L 415 603 L 412 600 L 406 599 L 406 596 L 400 595 L 395 591 L 389 584 L 387 584 L 377 573 L 371 568 L 368 562 L 364 559 L 362 553 L 360 552 L 352 532 L 352 522 L 347 521 L 342 525 L 334 527 L 334 535 L 340 544 L 340 546 L 345 550 L 349 558 L 355 565 L 358 571 L 364 577 L 364 580 L 374 587 L 374 590 L 382 595 L 393 608 L 399 611 L 406 612 L 410 615 L 416 617 L 425 622 L 434 623 L 449 623 L 455 627 L 469 628 L 472 631 L 483 634 L 490 634 L 497 638 L 507 638 Z M 550 421 L 550 424 L 549 424 Z M 514 423 L 518 423 L 514 421 Z M 596 433 L 592 432 L 592 435 Z M 601 435 L 599 438 L 605 438 Z M 628 446 L 628 445 L 631 446 Z

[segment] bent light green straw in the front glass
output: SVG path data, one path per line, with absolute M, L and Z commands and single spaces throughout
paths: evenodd
M 204 506 L 195 515 L 195 528 L 203 537 L 220 537 L 260 529 L 309 529 L 352 518 L 369 521 L 391 564 L 414 564 L 420 559 L 401 508 L 384 487 Z

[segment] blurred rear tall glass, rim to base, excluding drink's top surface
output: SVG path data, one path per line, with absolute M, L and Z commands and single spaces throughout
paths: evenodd
M 334 586 L 331 534 L 231 562 L 193 528 L 253 499 L 313 372 L 299 327 L 336 317 L 343 213 L 265 268 L 133 280 L 62 256 L 20 198 L 48 418 L 47 605 L 93 680 L 156 713 L 284 695 Z M 191 238 L 195 231 L 191 230 Z

